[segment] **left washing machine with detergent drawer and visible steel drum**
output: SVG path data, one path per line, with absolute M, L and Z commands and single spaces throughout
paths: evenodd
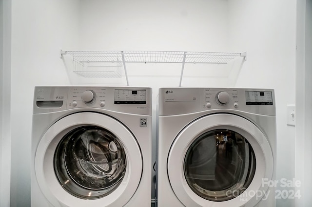
M 31 206 L 150 206 L 151 139 L 151 88 L 35 87 Z

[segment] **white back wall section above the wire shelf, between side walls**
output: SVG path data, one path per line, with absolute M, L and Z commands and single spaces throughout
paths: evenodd
M 227 0 L 81 0 L 80 8 L 81 49 L 227 49 Z

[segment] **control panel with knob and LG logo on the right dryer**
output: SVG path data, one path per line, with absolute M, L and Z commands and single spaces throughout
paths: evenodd
M 207 110 L 239 110 L 275 115 L 273 89 L 160 88 L 159 115 Z

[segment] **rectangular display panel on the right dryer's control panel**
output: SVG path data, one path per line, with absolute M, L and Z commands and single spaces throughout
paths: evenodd
M 245 91 L 246 105 L 273 105 L 271 91 Z

